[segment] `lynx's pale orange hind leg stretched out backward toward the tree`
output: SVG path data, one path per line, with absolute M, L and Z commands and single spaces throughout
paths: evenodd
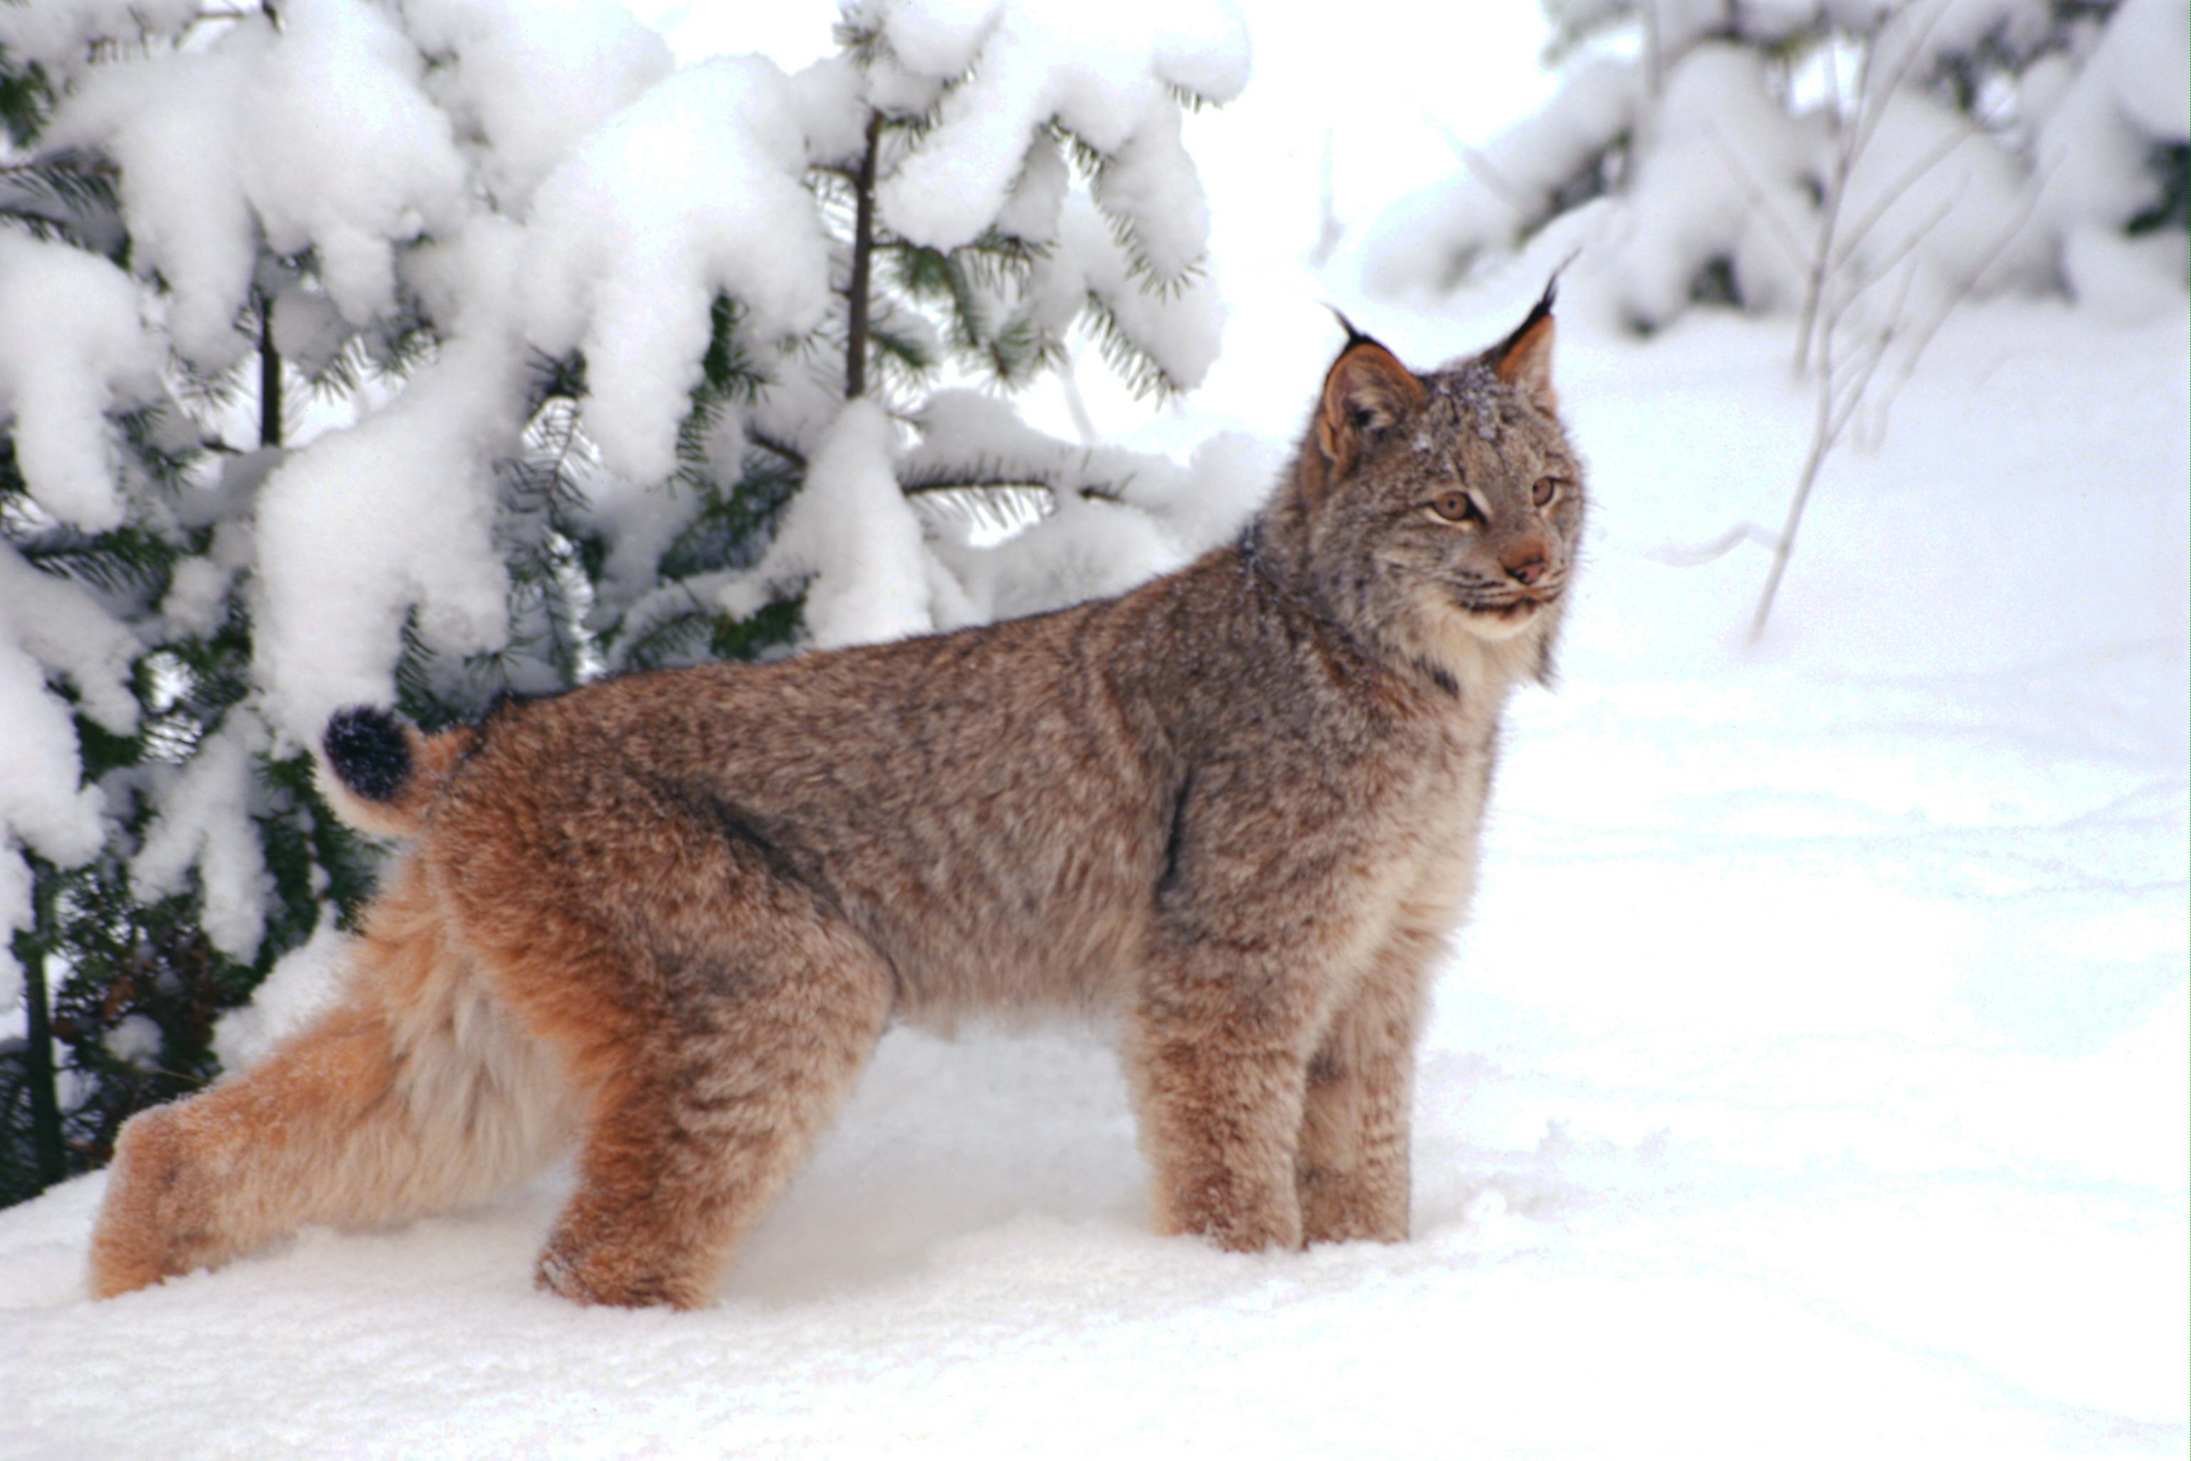
M 548 1054 L 451 957 L 414 870 L 372 909 L 348 999 L 265 1062 L 121 1135 L 92 1231 L 107 1299 L 217 1268 L 309 1222 L 475 1203 L 567 1139 Z

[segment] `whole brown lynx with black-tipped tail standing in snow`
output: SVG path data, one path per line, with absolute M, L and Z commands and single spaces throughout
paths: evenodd
M 1582 532 L 1551 300 L 1429 375 L 1347 326 L 1262 515 L 1122 598 L 337 714 L 329 797 L 410 848 L 331 1012 L 123 1130 L 92 1290 L 576 1146 L 539 1286 L 701 1305 L 892 1021 L 1045 1008 L 1120 1032 L 1159 1231 L 1407 1238 L 1424 981 Z

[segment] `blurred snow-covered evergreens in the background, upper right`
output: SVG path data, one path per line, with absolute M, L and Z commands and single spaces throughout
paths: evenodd
M 1821 269 L 1849 294 L 1893 274 L 1875 294 L 1913 320 L 1972 287 L 2184 285 L 2182 0 L 1545 11 L 1562 92 L 1367 226 L 1374 287 L 1450 287 L 1586 204 L 1573 237 L 1639 329 L 1698 300 L 1803 313 Z

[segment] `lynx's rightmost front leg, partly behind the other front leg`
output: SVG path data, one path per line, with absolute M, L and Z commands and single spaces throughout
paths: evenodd
M 1415 1027 L 1431 935 L 1400 935 L 1308 1062 L 1295 1181 L 1306 1242 L 1400 1242 L 1409 1231 Z

